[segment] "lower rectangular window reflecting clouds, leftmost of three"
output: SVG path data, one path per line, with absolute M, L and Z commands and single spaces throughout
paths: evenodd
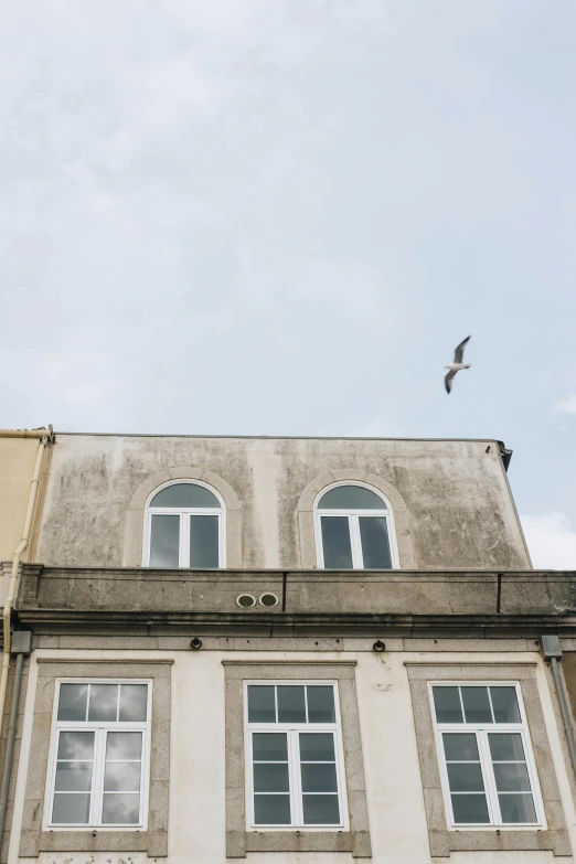
M 150 696 L 142 681 L 58 683 L 49 826 L 143 825 Z

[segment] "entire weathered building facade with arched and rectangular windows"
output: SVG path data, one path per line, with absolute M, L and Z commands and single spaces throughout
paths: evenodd
M 574 574 L 532 569 L 503 445 L 49 449 L 2 861 L 575 860 Z

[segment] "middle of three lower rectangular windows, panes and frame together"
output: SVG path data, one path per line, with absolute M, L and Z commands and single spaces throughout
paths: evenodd
M 342 828 L 335 685 L 248 684 L 250 828 Z

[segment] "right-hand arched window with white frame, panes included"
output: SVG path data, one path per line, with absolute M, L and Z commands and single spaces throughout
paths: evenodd
M 316 504 L 320 567 L 338 570 L 397 566 L 392 512 L 380 492 L 343 482 L 320 494 Z

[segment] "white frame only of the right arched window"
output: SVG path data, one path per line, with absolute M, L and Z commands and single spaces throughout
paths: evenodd
M 327 492 L 330 492 L 332 489 L 338 489 L 339 487 L 360 487 L 361 489 L 366 489 L 369 492 L 372 492 L 373 494 L 377 495 L 380 500 L 382 501 L 382 509 L 364 509 L 364 508 L 342 508 L 342 509 L 335 509 L 335 508 L 329 508 L 323 509 L 322 508 L 322 498 L 327 494 Z M 387 540 L 388 540 L 388 546 L 390 546 L 390 558 L 391 558 L 391 567 L 384 568 L 384 569 L 398 569 L 399 568 L 399 559 L 398 559 L 398 548 L 396 544 L 396 531 L 394 527 L 394 514 L 392 512 L 392 506 L 390 504 L 390 501 L 386 499 L 386 497 L 377 489 L 374 489 L 374 487 L 369 486 L 367 483 L 361 483 L 359 481 L 354 480 L 340 480 L 337 483 L 332 483 L 331 486 L 324 487 L 316 497 L 314 501 L 314 537 L 316 537 L 316 555 L 317 555 L 317 562 L 318 567 L 324 568 L 327 566 L 324 562 L 324 548 L 323 548 L 323 541 L 322 541 L 322 520 L 323 519 L 334 519 L 340 518 L 348 520 L 348 532 L 350 536 L 350 547 L 351 547 L 351 554 L 352 554 L 352 566 L 351 567 L 342 567 L 342 569 L 378 569 L 376 567 L 366 566 L 364 562 L 364 553 L 362 547 L 362 536 L 361 536 L 361 520 L 364 519 L 378 519 L 378 520 L 385 520 L 386 522 L 386 531 L 387 531 Z M 343 524 L 342 522 L 340 523 Z

